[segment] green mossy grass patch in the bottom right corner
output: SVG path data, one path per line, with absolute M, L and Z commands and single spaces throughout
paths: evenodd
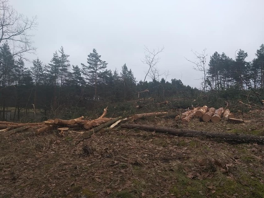
M 213 178 L 202 180 L 190 179 L 179 172 L 176 175 L 178 183 L 170 189 L 170 193 L 177 197 L 264 197 L 264 184 L 249 175 L 238 179 L 226 177 L 218 171 Z

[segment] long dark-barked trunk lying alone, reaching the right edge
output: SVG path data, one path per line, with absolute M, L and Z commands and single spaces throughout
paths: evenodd
M 257 143 L 264 144 L 264 136 L 255 136 L 250 134 L 233 134 L 233 133 L 213 133 L 205 131 L 187 130 L 187 129 L 171 129 L 165 127 L 155 127 L 148 125 L 121 124 L 121 128 L 141 129 L 148 131 L 156 131 L 160 133 L 168 133 L 178 136 L 201 136 L 212 139 L 220 139 L 229 143 Z

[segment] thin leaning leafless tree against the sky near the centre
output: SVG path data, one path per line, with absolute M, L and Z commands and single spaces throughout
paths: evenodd
M 153 49 L 153 51 L 150 51 L 145 46 L 144 50 L 145 50 L 145 57 L 142 60 L 142 63 L 148 66 L 148 71 L 146 72 L 144 82 L 146 81 L 147 76 L 156 80 L 160 76 L 158 68 L 157 68 L 157 63 L 160 60 L 160 57 L 158 56 L 158 54 L 163 52 L 164 47 L 162 47 L 161 50 L 158 48 L 157 50 Z

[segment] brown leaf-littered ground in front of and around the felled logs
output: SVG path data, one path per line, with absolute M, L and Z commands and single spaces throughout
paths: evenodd
M 135 124 L 264 135 L 264 110 L 236 118 L 245 123 L 158 117 Z M 264 197 L 263 145 L 126 129 L 73 146 L 80 139 L 55 131 L 0 136 L 0 197 Z

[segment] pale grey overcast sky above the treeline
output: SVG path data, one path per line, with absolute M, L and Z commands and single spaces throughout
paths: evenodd
M 164 46 L 158 68 L 160 73 L 169 70 L 168 81 L 181 79 L 200 88 L 202 74 L 184 58 L 194 60 L 191 50 L 207 48 L 209 63 L 215 51 L 234 59 L 241 48 L 249 61 L 264 43 L 264 0 L 10 0 L 10 4 L 28 17 L 37 15 L 39 25 L 33 32 L 37 54 L 29 59 L 39 57 L 48 64 L 63 46 L 70 63 L 81 66 L 95 48 L 108 69 L 121 71 L 126 63 L 137 81 L 147 70 L 141 62 L 144 45 Z

